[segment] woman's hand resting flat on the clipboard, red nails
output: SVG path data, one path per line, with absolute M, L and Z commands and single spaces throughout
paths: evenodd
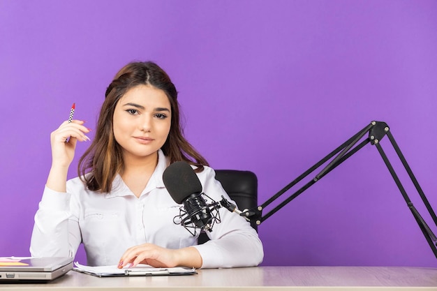
M 151 267 L 202 267 L 202 258 L 196 248 L 179 248 L 176 250 L 156 246 L 156 244 L 140 244 L 128 248 L 121 256 L 119 268 L 131 264 L 149 264 Z

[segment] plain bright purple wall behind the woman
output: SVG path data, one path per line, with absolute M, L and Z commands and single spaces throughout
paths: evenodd
M 133 60 L 168 71 L 188 140 L 216 169 L 255 172 L 260 204 L 378 120 L 437 209 L 436 15 L 434 0 L 1 0 L 0 255 L 29 254 L 50 132 L 73 102 L 95 128 L 106 87 Z M 437 266 L 371 145 L 259 233 L 263 265 Z

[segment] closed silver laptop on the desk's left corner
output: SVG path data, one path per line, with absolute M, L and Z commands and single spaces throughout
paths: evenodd
M 26 258 L 0 262 L 0 282 L 20 283 L 27 281 L 48 282 L 73 269 L 73 258 Z

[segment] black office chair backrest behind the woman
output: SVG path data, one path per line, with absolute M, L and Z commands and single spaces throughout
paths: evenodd
M 239 210 L 258 207 L 258 179 L 253 172 L 216 170 L 216 179 L 220 181 L 229 197 L 235 201 Z M 258 225 L 253 221 L 251 225 L 258 231 Z M 208 239 L 207 234 L 202 232 L 198 244 L 203 244 Z

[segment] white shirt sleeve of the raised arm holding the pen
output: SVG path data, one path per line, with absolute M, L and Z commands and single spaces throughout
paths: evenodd
M 34 257 L 74 257 L 79 247 L 80 229 L 71 213 L 71 193 L 44 188 L 35 215 L 30 253 Z

